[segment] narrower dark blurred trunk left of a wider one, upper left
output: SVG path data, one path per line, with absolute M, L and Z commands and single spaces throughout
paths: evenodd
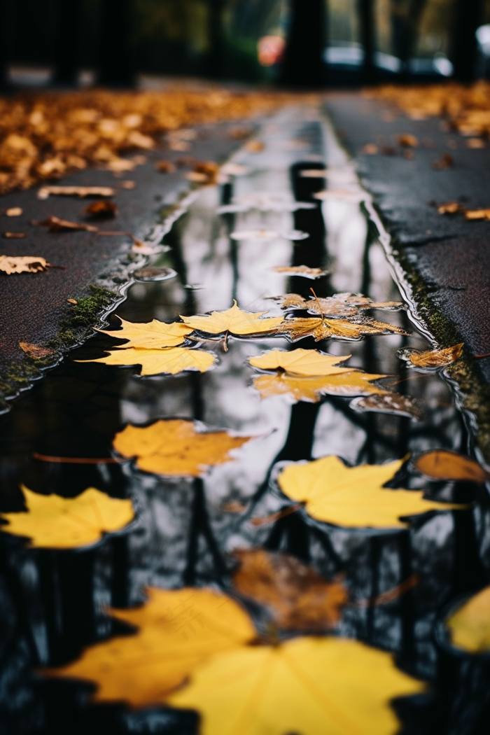
M 57 0 L 54 40 L 54 84 L 75 86 L 79 71 L 79 0 Z

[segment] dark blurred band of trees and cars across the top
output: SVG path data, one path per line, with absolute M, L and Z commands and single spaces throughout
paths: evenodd
M 144 73 L 306 87 L 489 68 L 475 31 L 490 0 L 0 0 L 0 16 L 13 81 L 23 66 L 57 85 L 86 70 L 115 86 Z

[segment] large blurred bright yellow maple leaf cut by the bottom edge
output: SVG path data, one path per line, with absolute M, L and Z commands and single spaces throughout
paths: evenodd
M 168 703 L 197 710 L 201 735 L 394 735 L 400 722 L 390 700 L 424 689 L 391 653 L 300 637 L 218 653 Z

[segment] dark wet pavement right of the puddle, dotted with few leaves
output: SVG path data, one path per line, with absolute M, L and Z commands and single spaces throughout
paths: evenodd
M 453 323 L 455 343 L 488 354 L 490 223 L 440 215 L 434 205 L 456 200 L 468 209 L 489 206 L 490 146 L 469 148 L 442 118 L 413 120 L 392 104 L 358 94 L 333 94 L 326 109 L 393 238 L 395 259 L 397 251 L 408 258 L 434 309 Z M 398 144 L 406 134 L 417 138 L 416 148 Z M 366 154 L 368 144 L 378 146 L 378 154 Z M 396 154 L 383 154 L 383 147 Z M 453 166 L 438 171 L 433 163 L 444 154 L 453 157 Z M 490 358 L 478 367 L 488 383 Z

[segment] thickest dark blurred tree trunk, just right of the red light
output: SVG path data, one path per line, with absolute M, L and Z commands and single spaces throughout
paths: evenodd
M 295 87 L 325 82 L 325 0 L 289 0 L 289 32 L 281 81 Z

